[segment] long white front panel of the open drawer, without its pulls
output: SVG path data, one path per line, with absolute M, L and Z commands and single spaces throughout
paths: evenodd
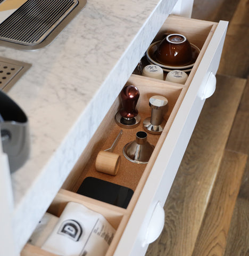
M 200 93 L 205 88 L 207 75 L 216 74 L 225 40 L 228 22 L 220 21 L 203 56 L 192 83 L 178 110 L 170 131 L 157 156 L 128 225 L 114 253 L 116 256 L 144 255 L 144 239 L 157 202 L 165 203 L 181 159 L 192 135 L 204 99 Z

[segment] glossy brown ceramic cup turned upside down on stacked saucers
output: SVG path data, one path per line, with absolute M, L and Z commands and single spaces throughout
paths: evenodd
M 157 61 L 167 66 L 185 66 L 192 61 L 192 47 L 184 35 L 169 34 L 155 52 Z

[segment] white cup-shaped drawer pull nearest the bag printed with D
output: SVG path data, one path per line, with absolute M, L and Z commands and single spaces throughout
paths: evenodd
M 164 226 L 164 216 L 163 207 L 157 202 L 147 227 L 143 246 L 154 242 L 160 236 Z

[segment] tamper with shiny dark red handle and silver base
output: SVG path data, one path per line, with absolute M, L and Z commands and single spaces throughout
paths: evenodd
M 120 94 L 122 108 L 115 115 L 117 124 L 123 128 L 131 129 L 139 125 L 140 115 L 136 109 L 139 91 L 133 85 L 127 85 Z

